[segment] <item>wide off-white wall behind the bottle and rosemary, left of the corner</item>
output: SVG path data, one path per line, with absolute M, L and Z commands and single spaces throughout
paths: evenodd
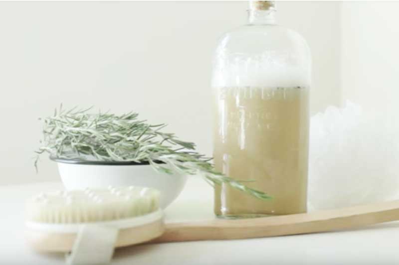
M 245 1 L 0 2 L 0 184 L 58 179 L 44 156 L 36 174 L 32 157 L 41 137 L 37 118 L 61 102 L 137 111 L 169 123 L 169 131 L 210 155 L 211 55 L 218 36 L 245 22 L 246 7 Z M 279 23 L 301 33 L 312 50 L 312 113 L 341 100 L 341 7 L 277 6 Z

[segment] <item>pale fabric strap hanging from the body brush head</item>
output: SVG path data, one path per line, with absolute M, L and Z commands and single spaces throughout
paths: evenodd
M 118 232 L 118 228 L 111 226 L 81 225 L 72 251 L 66 255 L 66 264 L 109 264 Z

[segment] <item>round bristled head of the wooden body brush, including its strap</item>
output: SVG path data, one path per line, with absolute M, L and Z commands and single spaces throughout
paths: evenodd
M 69 253 L 70 265 L 106 264 L 114 248 L 163 234 L 159 196 L 134 186 L 41 193 L 26 205 L 26 239 L 37 251 Z

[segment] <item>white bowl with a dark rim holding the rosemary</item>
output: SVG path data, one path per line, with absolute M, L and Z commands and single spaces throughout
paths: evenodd
M 161 191 L 160 207 L 163 209 L 177 198 L 187 181 L 185 175 L 158 173 L 148 164 L 53 160 L 57 162 L 62 182 L 68 190 L 110 185 L 153 187 Z

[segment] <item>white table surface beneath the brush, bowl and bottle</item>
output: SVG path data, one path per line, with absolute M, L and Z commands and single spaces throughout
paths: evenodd
M 64 264 L 62 255 L 33 252 L 23 238 L 24 201 L 35 193 L 61 189 L 60 182 L 0 187 L 0 264 Z M 212 190 L 190 178 L 166 209 L 168 220 L 209 219 Z M 399 264 L 399 222 L 355 231 L 275 238 L 140 245 L 119 249 L 113 265 L 389 265 Z

